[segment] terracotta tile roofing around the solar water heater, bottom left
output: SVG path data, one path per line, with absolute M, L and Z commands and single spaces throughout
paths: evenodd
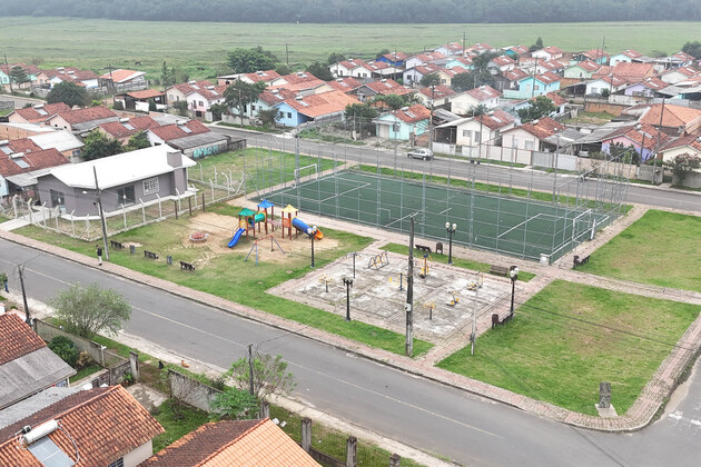
M 60 420 L 62 429 L 48 438 L 73 461 L 77 447 L 85 466 L 107 466 L 164 433 L 121 386 L 85 390 L 1 429 L 0 465 L 43 467 L 28 449 L 18 449 L 13 435 L 23 426 L 37 427 L 51 419 Z

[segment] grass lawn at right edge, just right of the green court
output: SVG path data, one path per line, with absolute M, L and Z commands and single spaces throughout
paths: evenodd
M 651 209 L 579 268 L 583 272 L 701 292 L 700 232 L 701 217 Z

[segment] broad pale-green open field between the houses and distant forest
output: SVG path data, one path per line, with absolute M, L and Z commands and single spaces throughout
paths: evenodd
M 673 53 L 698 39 L 699 22 L 605 22 L 541 24 L 294 24 L 113 21 L 101 19 L 6 19 L 0 43 L 11 43 L 8 60 L 41 57 L 46 66 L 136 67 L 158 78 L 164 60 L 190 78 L 225 71 L 227 51 L 261 46 L 290 63 L 326 60 L 333 51 L 374 58 L 381 49 L 419 51 L 448 41 L 486 42 L 493 47 L 530 46 L 540 36 L 564 50 L 601 47 L 616 53 L 634 48 L 642 53 Z M 50 40 L 47 40 L 50 38 Z M 198 70 L 203 68 L 203 70 Z

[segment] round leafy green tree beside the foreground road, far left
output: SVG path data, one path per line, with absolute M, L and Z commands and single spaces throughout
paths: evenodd
M 124 297 L 97 282 L 86 288 L 71 285 L 51 300 L 51 306 L 69 332 L 86 338 L 101 331 L 116 335 L 131 316 L 131 305 Z

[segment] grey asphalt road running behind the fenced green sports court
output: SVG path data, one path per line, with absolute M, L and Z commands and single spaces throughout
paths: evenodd
M 280 135 L 265 135 L 250 131 L 240 131 L 230 127 L 210 126 L 213 131 L 230 135 L 237 138 L 246 138 L 248 146 L 271 148 L 288 152 L 295 152 L 296 140 Z M 437 158 L 431 161 L 408 159 L 403 151 L 395 156 L 394 151 L 377 148 L 349 145 L 332 145 L 310 140 L 300 140 L 299 150 L 303 153 L 320 155 L 322 157 L 338 157 L 343 160 L 361 161 L 363 163 L 379 163 L 397 168 L 426 171 L 432 173 L 451 173 L 453 177 L 472 178 L 490 183 L 512 185 L 514 187 L 532 187 L 534 190 L 552 191 L 555 185 L 555 175 L 541 170 L 516 169 L 496 165 L 471 165 L 466 161 L 455 161 Z M 559 175 L 557 187 L 574 179 L 572 175 Z M 595 192 L 596 179 L 588 179 L 584 187 L 580 187 L 580 192 Z M 572 183 L 570 195 L 576 193 L 576 183 Z M 561 188 L 564 190 L 564 188 Z M 701 211 L 701 193 L 684 192 L 680 190 L 665 190 L 654 187 L 631 183 L 628 189 L 626 202 L 638 202 L 662 208 L 683 209 L 689 211 Z

